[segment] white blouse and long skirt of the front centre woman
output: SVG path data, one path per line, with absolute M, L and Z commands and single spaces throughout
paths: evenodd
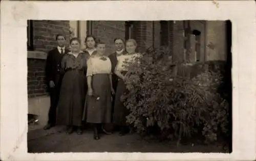
M 96 56 L 90 57 L 87 75 L 92 76 L 93 96 L 87 96 L 85 104 L 85 116 L 88 123 L 111 122 L 110 74 L 111 62 L 108 57 L 104 57 L 103 60 Z

